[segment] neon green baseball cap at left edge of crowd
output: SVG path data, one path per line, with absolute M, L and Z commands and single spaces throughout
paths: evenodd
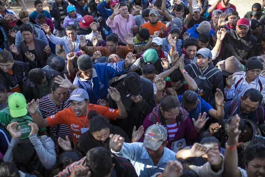
M 8 97 L 8 107 L 12 117 L 22 117 L 28 113 L 26 99 L 18 92 Z

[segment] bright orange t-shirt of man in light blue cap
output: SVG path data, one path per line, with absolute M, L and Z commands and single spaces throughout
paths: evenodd
M 100 106 L 100 105 L 94 105 L 94 104 L 89 104 L 87 106 L 87 108 L 88 108 L 88 112 L 90 110 L 95 110 L 100 115 L 103 115 L 106 118 L 110 118 L 113 120 L 117 119 L 117 116 L 119 113 L 118 109 L 111 109 L 111 108 L 106 107 L 106 106 Z M 83 124 L 85 124 L 85 121 L 86 121 L 85 128 L 89 127 L 88 126 L 88 122 L 89 122 L 88 117 L 87 117 L 87 120 L 85 120 L 86 116 L 87 115 L 80 116 L 80 117 L 78 117 L 79 118 L 79 120 L 78 120 L 78 118 L 73 113 L 72 108 L 66 108 L 66 109 L 59 111 L 58 113 L 56 113 L 52 116 L 47 117 L 47 122 L 48 122 L 50 127 L 54 127 L 54 126 L 59 125 L 59 124 L 66 124 L 69 127 L 71 134 L 73 136 L 74 145 L 76 145 L 78 138 L 81 136 L 81 128 L 83 128 Z

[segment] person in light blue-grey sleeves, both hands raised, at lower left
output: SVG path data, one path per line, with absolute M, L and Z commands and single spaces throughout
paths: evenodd
M 36 123 L 29 123 L 29 140 L 21 140 L 21 128 L 17 122 L 8 124 L 7 130 L 12 136 L 4 161 L 16 163 L 20 171 L 32 174 L 38 171 L 42 176 L 56 168 L 56 153 L 53 140 L 46 135 L 37 137 L 39 128 Z

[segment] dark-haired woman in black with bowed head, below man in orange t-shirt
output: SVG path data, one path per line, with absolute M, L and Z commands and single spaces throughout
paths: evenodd
M 109 150 L 110 134 L 120 134 L 122 137 L 124 137 L 125 142 L 130 143 L 131 141 L 138 141 L 144 133 L 143 126 L 139 127 L 137 131 L 136 127 L 134 126 L 132 140 L 130 140 L 124 130 L 122 130 L 120 127 L 110 124 L 106 117 L 98 115 L 95 110 L 89 111 L 88 119 L 89 129 L 80 136 L 75 147 L 76 151 L 81 152 L 82 157 L 84 157 L 87 151 L 92 148 L 103 147 Z M 62 138 L 59 138 L 58 143 L 63 150 L 71 150 L 71 144 L 67 138 L 66 141 L 64 141 Z

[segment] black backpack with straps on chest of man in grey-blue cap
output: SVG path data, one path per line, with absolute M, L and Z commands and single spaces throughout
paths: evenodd
M 198 86 L 197 93 L 204 99 L 206 102 L 209 102 L 213 95 L 213 85 L 209 81 L 209 78 L 215 75 L 217 72 L 221 72 L 218 68 L 212 68 L 206 74 L 202 75 L 198 70 L 198 67 L 195 63 L 189 64 L 195 73 L 196 77 L 194 81 Z

